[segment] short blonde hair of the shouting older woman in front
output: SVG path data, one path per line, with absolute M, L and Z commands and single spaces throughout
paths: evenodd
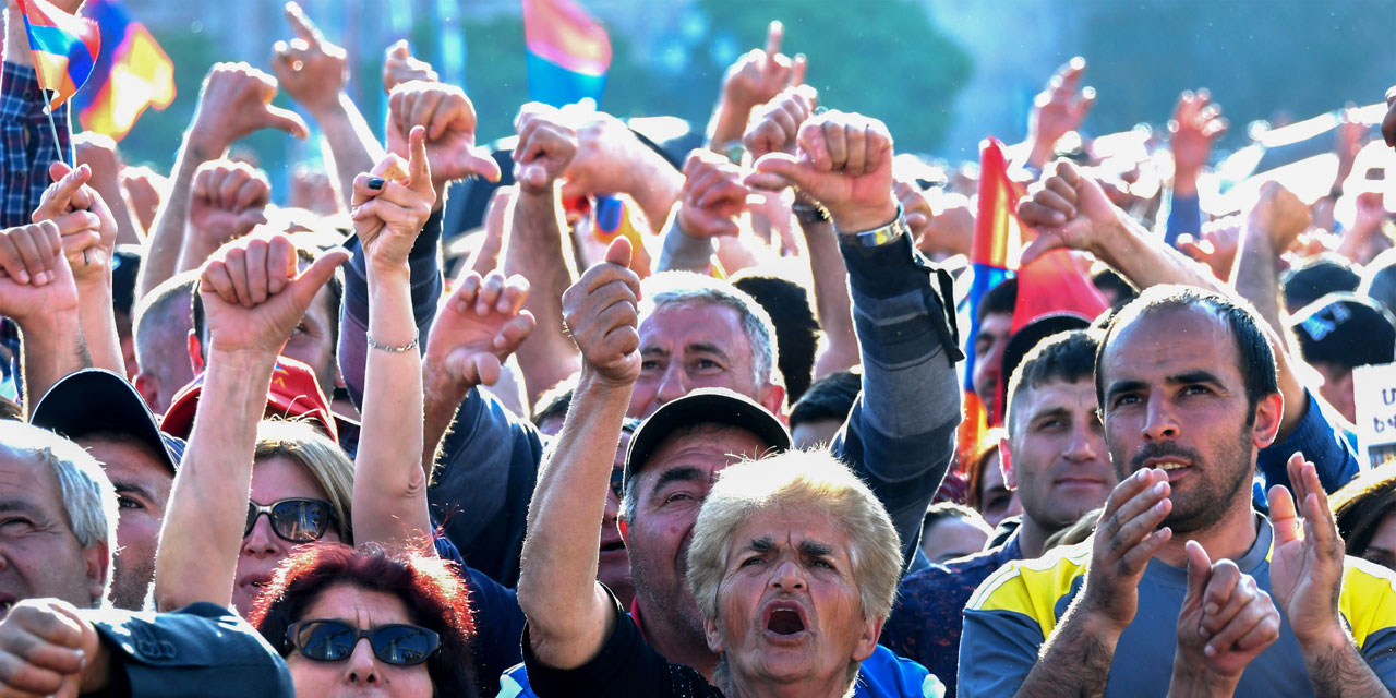
M 773 511 L 825 515 L 849 536 L 849 560 L 866 618 L 885 618 L 902 575 L 902 544 L 872 490 L 828 450 L 786 451 L 727 466 L 694 524 L 688 588 L 704 618 L 718 618 L 718 592 L 732 535 L 751 517 Z

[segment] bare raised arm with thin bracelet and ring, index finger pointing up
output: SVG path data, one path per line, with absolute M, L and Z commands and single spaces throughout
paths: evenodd
M 353 528 L 362 540 L 429 536 L 422 472 L 422 355 L 412 317 L 408 255 L 431 215 L 436 190 L 426 128 L 412 130 L 410 159 L 388 155 L 353 183 L 355 235 L 369 261 L 369 360 L 363 431 L 355 456 Z

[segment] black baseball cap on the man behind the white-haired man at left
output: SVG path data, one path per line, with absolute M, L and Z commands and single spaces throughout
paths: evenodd
M 82 369 L 54 383 L 35 405 L 29 423 L 74 441 L 98 433 L 131 436 L 163 455 L 170 472 L 184 458 L 184 441 L 161 433 L 135 388 L 105 369 Z

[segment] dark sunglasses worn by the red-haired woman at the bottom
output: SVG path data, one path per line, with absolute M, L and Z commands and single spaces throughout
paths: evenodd
M 349 659 L 360 638 L 369 638 L 380 662 L 399 666 L 420 664 L 441 646 L 436 632 L 405 623 L 359 630 L 338 620 L 303 620 L 286 628 L 286 642 L 317 662 Z

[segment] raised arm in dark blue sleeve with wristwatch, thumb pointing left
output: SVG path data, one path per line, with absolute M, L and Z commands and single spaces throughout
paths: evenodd
M 833 450 L 878 494 L 910 560 L 953 458 L 960 353 L 951 302 L 942 300 L 949 276 L 916 254 L 892 197 L 892 138 L 881 121 L 826 112 L 800 128 L 797 155 L 762 156 L 748 183 L 800 187 L 828 209 L 840 236 L 863 395 Z

